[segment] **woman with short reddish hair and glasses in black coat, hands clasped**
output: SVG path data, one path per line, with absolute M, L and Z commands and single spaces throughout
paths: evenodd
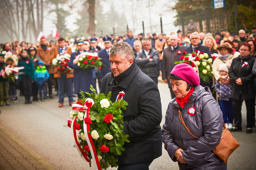
M 229 69 L 229 77 L 233 81 L 230 98 L 233 99 L 233 117 L 234 126 L 230 131 L 242 131 L 241 107 L 245 100 L 247 130 L 246 133 L 252 133 L 252 127 L 255 122 L 255 88 L 254 77 L 255 57 L 250 55 L 251 46 L 248 43 L 242 43 L 240 46 L 241 55 L 233 59 Z

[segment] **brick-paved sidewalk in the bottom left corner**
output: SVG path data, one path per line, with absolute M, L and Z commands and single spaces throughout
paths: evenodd
M 54 170 L 39 155 L 0 125 L 0 170 Z

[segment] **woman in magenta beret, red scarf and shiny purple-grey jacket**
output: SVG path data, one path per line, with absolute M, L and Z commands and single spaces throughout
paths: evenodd
M 227 163 L 212 152 L 220 143 L 222 113 L 210 88 L 199 85 L 198 74 L 188 64 L 177 64 L 169 79 L 176 97 L 168 104 L 162 135 L 172 161 L 178 161 L 181 170 L 226 170 Z

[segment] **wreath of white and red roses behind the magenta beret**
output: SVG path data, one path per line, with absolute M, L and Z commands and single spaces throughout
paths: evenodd
M 178 51 L 177 54 L 181 54 L 181 51 Z M 184 56 L 180 56 L 180 61 L 176 61 L 174 64 L 189 64 L 204 82 L 208 82 L 212 78 L 212 58 L 209 58 L 207 53 L 195 50 L 191 54 L 187 54 L 187 51 L 183 51 L 182 54 Z

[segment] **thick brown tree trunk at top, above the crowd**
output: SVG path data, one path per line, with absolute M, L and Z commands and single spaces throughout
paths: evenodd
M 87 0 L 89 3 L 89 7 L 88 7 L 88 13 L 89 13 L 89 26 L 87 29 L 87 33 L 89 35 L 92 35 L 95 33 L 95 0 Z

